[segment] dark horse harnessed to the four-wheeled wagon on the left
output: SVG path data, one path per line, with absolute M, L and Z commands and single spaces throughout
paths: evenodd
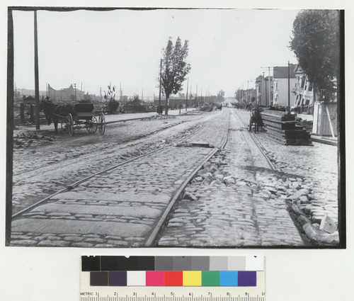
M 41 110 L 45 113 L 47 125 L 50 125 L 53 121 L 56 134 L 58 132 L 58 120 L 60 116 L 66 117 L 69 113 L 74 114 L 74 108 L 71 104 L 57 105 L 48 99 L 41 101 L 40 111 Z

